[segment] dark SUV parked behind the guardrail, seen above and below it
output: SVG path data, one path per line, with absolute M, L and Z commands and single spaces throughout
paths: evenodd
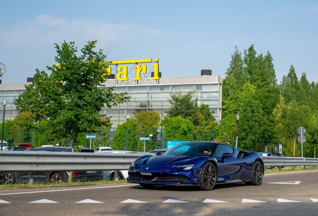
M 71 147 L 59 147 L 59 146 L 45 146 L 28 149 L 30 151 L 59 151 L 59 152 L 71 152 Z M 89 148 L 81 147 L 80 152 L 94 152 Z M 47 182 L 61 182 L 68 181 L 68 171 L 34 171 L 33 182 L 34 183 L 47 183 Z M 94 181 L 102 179 L 102 171 L 87 170 L 87 171 L 73 171 L 72 181 Z M 15 182 L 27 182 L 28 172 L 5 172 L 4 183 Z

